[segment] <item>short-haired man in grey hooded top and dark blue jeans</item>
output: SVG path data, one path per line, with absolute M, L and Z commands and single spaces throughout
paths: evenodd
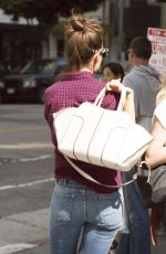
M 147 38 L 134 38 L 127 50 L 132 71 L 123 84 L 134 91 L 136 123 L 151 131 L 156 95 L 160 85 L 159 74 L 149 66 L 152 44 Z M 132 179 L 134 169 L 122 174 L 123 182 Z M 148 210 L 143 208 L 136 181 L 124 187 L 129 234 L 123 234 L 116 254 L 151 254 L 151 223 Z

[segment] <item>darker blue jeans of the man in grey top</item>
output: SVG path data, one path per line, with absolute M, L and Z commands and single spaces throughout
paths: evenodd
M 132 179 L 133 170 L 123 172 L 123 182 Z M 116 254 L 151 254 L 151 223 L 148 210 L 143 208 L 136 181 L 124 187 L 129 234 L 123 234 Z

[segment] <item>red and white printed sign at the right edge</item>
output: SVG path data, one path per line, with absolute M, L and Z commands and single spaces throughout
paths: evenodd
M 147 38 L 152 42 L 153 50 L 149 64 L 163 75 L 166 73 L 166 30 L 148 28 Z

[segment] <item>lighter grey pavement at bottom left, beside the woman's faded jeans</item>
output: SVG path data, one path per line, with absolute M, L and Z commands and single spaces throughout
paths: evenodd
M 0 254 L 49 254 L 49 209 L 18 213 L 0 220 Z M 166 254 L 166 235 L 152 254 Z

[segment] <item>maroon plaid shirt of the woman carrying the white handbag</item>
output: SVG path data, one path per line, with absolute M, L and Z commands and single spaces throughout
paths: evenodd
M 49 123 L 52 141 L 55 146 L 55 179 L 71 179 L 95 190 L 98 193 L 111 193 L 117 188 L 106 188 L 93 183 L 81 174 L 79 174 L 64 159 L 56 148 L 56 139 L 53 130 L 52 114 L 64 107 L 77 107 L 83 102 L 94 102 L 97 94 L 104 87 L 105 83 L 94 78 L 90 72 L 66 73 L 61 81 L 54 83 L 45 89 L 45 119 Z M 115 109 L 118 103 L 118 95 L 108 93 L 105 95 L 102 107 Z M 92 176 L 97 181 L 110 184 L 120 186 L 121 176 L 116 170 L 89 165 L 85 162 L 73 160 L 82 170 Z

